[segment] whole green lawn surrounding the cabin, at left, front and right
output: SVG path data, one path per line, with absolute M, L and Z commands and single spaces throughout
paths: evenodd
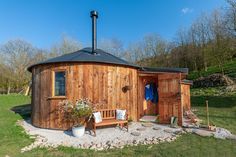
M 197 91 L 195 91 L 197 92 Z M 205 118 L 204 92 L 192 97 L 193 106 L 200 118 Z M 211 122 L 236 133 L 236 97 L 208 97 Z M 10 109 L 14 106 L 28 104 L 29 97 L 20 95 L 0 95 L 0 157 L 1 156 L 236 156 L 236 141 L 203 138 L 186 134 L 172 143 L 159 145 L 126 147 L 109 151 L 92 151 L 59 147 L 57 149 L 37 148 L 30 152 L 20 153 L 20 149 L 29 145 L 32 140 L 16 125 L 22 117 Z

